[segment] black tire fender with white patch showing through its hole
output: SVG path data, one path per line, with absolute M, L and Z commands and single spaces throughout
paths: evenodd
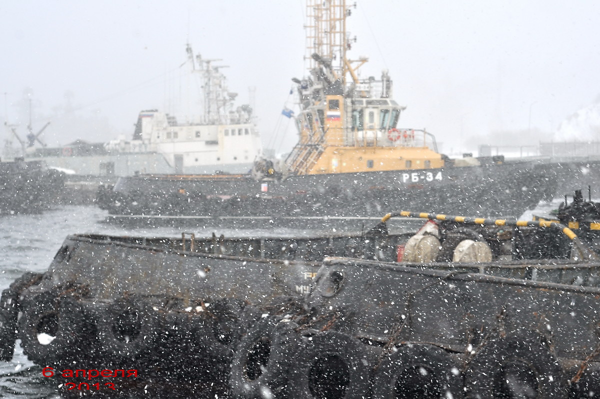
M 19 338 L 23 353 L 32 362 L 46 367 L 70 361 L 80 344 L 80 324 L 70 314 L 69 301 L 59 298 L 55 290 L 39 293 L 26 299 L 21 305 Z M 41 323 L 56 328 L 55 338 L 49 344 L 41 344 L 37 337 Z M 56 323 L 56 324 L 54 324 Z

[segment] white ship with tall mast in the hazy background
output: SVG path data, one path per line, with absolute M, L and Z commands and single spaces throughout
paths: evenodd
M 214 65 L 220 60 L 194 56 L 189 44 L 187 53 L 202 87 L 203 106 L 196 119 L 182 123 L 160 110 L 143 110 L 131 139 L 93 144 L 78 140 L 59 148 L 25 148 L 19 139 L 22 154 L 27 160 L 44 160 L 49 167 L 87 176 L 248 173 L 262 152 L 251 107 L 235 106 L 237 94 L 227 90 L 222 67 Z M 41 143 L 31 131 L 29 136 L 30 143 L 35 139 Z

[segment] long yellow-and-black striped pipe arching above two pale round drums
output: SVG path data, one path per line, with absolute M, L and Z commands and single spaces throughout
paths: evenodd
M 427 214 L 425 212 L 408 212 L 400 211 L 387 214 L 382 218 L 382 223 L 385 223 L 393 217 L 421 218 L 428 220 L 445 220 L 454 221 L 464 224 L 481 224 L 481 225 L 496 225 L 496 226 L 532 226 L 532 227 L 550 227 L 551 229 L 561 230 L 569 239 L 576 239 L 577 235 L 573 230 L 566 227 L 564 224 L 557 223 L 552 220 L 509 220 L 509 219 L 487 219 L 487 218 L 472 218 L 464 216 L 451 216 L 443 214 Z

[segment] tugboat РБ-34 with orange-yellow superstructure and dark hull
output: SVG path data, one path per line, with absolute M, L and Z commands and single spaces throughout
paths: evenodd
M 554 193 L 553 182 L 531 162 L 450 160 L 429 132 L 398 127 L 406 107 L 392 98 L 389 74 L 361 79 L 358 70 L 367 59 L 347 57 L 346 2 L 308 1 L 307 12 L 310 74 L 293 79 L 299 140 L 284 165 L 260 160 L 248 175 L 120 178 L 101 190 L 98 201 L 115 216 L 111 220 L 361 218 L 423 208 L 518 217 Z

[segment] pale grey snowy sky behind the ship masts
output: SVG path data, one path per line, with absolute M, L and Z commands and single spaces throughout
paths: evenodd
M 446 152 L 489 137 L 504 145 L 550 139 L 600 94 L 600 2 L 357 4 L 349 56 L 370 58 L 361 76 L 387 68 L 395 99 L 407 106 L 400 125 L 427 128 Z M 27 88 L 34 128 L 51 120 L 44 137 L 52 144 L 129 137 L 142 109 L 184 119 L 195 106 L 182 88 L 187 67 L 179 68 L 189 41 L 229 65 L 239 104 L 256 88 L 263 143 L 285 151 L 296 136 L 280 113 L 290 79 L 304 74 L 304 14 L 300 0 L 2 2 L 1 120 L 25 131 Z M 286 126 L 286 136 L 272 139 Z

